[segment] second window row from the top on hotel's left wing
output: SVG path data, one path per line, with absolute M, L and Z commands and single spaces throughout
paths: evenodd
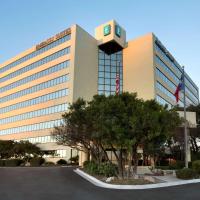
M 10 74 L 0 78 L 0 82 L 4 82 L 4 81 L 9 80 L 11 78 L 14 78 L 14 77 L 16 77 L 18 75 L 21 75 L 21 74 L 23 74 L 23 73 L 25 73 L 27 71 L 35 69 L 35 68 L 39 67 L 40 65 L 43 65 L 43 64 L 45 64 L 47 62 L 50 62 L 52 60 L 55 60 L 55 59 L 61 57 L 61 56 L 69 54 L 69 52 L 70 52 L 70 47 L 62 49 L 62 50 L 60 50 L 60 51 L 58 51 L 58 52 L 56 52 L 56 53 L 54 53 L 54 54 L 52 54 L 50 56 L 42 58 L 41 60 L 38 60 L 38 61 L 28 65 L 28 66 L 25 66 L 25 67 L 13 72 L 13 73 L 10 73 Z

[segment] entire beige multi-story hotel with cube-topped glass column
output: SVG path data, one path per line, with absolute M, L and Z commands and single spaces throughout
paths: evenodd
M 51 131 L 69 103 L 115 94 L 118 77 L 120 92 L 171 107 L 181 73 L 152 33 L 126 42 L 114 20 L 97 27 L 95 37 L 73 25 L 0 65 L 0 139 L 29 140 L 68 159 L 76 151 L 57 145 Z M 187 74 L 185 82 L 187 105 L 197 105 L 198 87 Z

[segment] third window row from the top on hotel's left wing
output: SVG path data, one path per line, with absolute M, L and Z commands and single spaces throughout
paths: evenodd
M 65 62 L 59 63 L 57 65 L 54 65 L 53 67 L 50 67 L 48 69 L 45 69 L 45 70 L 40 71 L 38 73 L 35 73 L 35 74 L 33 74 L 31 76 L 28 76 L 26 78 L 23 78 L 23 79 L 21 79 L 19 81 L 16 81 L 14 83 L 6 85 L 6 86 L 0 88 L 0 93 L 4 92 L 4 91 L 11 90 L 13 88 L 16 88 L 16 87 L 18 87 L 20 85 L 26 84 L 26 83 L 31 82 L 33 80 L 39 79 L 39 78 L 41 78 L 43 76 L 46 76 L 48 74 L 52 74 L 52 73 L 57 72 L 57 71 L 59 71 L 61 69 L 67 68 L 69 66 L 69 63 L 70 63 L 70 61 L 67 60 Z

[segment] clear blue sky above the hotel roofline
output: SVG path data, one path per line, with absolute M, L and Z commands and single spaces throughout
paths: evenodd
M 2 0 L 0 63 L 79 24 L 115 19 L 134 39 L 154 32 L 200 87 L 200 0 Z

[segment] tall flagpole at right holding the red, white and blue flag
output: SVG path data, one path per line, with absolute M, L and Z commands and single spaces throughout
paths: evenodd
M 188 135 L 186 120 L 186 97 L 185 97 L 185 69 L 183 69 L 183 103 L 184 103 L 184 144 L 185 144 L 185 167 L 188 168 Z

